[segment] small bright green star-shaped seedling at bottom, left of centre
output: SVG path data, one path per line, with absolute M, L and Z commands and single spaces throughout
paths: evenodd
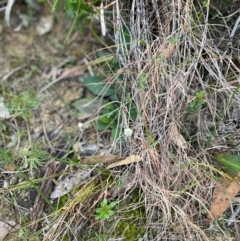
M 112 209 L 116 206 L 116 204 L 116 202 L 111 202 L 108 204 L 107 199 L 104 198 L 101 202 L 101 206 L 96 209 L 96 220 L 107 220 L 113 216 L 114 211 Z

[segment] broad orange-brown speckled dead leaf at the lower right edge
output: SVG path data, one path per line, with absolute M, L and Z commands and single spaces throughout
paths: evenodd
M 210 219 L 215 220 L 222 215 L 239 191 L 240 186 L 236 181 L 228 180 L 218 183 L 213 191 Z

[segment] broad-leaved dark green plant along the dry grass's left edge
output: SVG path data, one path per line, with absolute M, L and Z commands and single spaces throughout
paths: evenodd
M 101 59 L 104 59 L 104 56 L 101 56 L 100 60 Z M 120 64 L 112 58 L 108 60 L 107 57 L 105 57 L 105 59 L 107 68 L 110 68 L 113 72 L 118 72 Z M 122 93 L 120 93 L 120 84 L 109 85 L 105 79 L 103 76 L 87 76 L 84 78 L 83 83 L 89 91 L 96 96 L 104 98 L 105 101 L 105 105 L 101 108 L 100 115 L 96 122 L 96 129 L 98 131 L 111 130 L 112 139 L 118 140 L 124 132 L 123 128 L 119 125 L 122 120 L 122 116 L 119 114 L 121 106 L 124 106 L 124 108 L 128 110 L 129 120 L 136 119 L 137 108 L 130 94 L 125 100 L 120 99 L 121 97 L 119 96 L 122 95 Z M 115 79 L 115 83 L 121 83 L 121 74 L 115 76 Z

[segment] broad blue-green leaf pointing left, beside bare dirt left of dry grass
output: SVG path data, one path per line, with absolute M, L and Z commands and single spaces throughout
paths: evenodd
M 97 76 L 87 76 L 84 78 L 83 83 L 95 95 L 106 97 L 115 93 L 113 88 L 107 86 L 107 84 Z

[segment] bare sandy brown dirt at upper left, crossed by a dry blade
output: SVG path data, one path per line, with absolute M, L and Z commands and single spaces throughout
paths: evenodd
M 12 22 L 20 21 L 17 9 L 23 9 L 19 10 L 23 11 L 21 14 L 27 14 L 24 12 L 22 4 L 14 5 Z M 72 21 L 70 19 L 66 21 L 63 14 L 57 15 L 50 33 L 38 36 L 35 26 L 39 18 L 40 15 L 37 13 L 37 17 L 31 19 L 31 25 L 28 28 L 23 27 L 18 32 L 14 31 L 13 28 L 5 27 L 2 20 L 0 42 L 2 83 L 8 82 L 7 85 L 16 94 L 20 93 L 21 89 L 30 87 L 36 91 L 41 102 L 40 108 L 34 111 L 30 119 L 31 126 L 29 127 L 30 130 L 38 133 L 43 131 L 43 123 L 46 125 L 47 132 L 59 124 L 72 123 L 70 103 L 81 98 L 84 92 L 79 78 L 61 80 L 46 91 L 39 93 L 40 90 L 48 85 L 56 75 L 60 74 L 64 67 L 78 65 L 87 53 L 98 47 L 98 43 L 93 40 L 89 30 L 85 30 L 85 33 L 81 34 L 77 29 L 68 41 L 69 44 L 64 45 L 63 42 Z M 19 67 L 20 69 L 16 70 Z M 27 75 L 32 71 L 32 67 L 36 70 L 29 77 Z M 9 74 L 11 74 L 10 77 L 5 80 Z M 84 71 L 82 71 L 81 76 L 84 76 Z M 16 81 L 16 79 L 19 80 Z

